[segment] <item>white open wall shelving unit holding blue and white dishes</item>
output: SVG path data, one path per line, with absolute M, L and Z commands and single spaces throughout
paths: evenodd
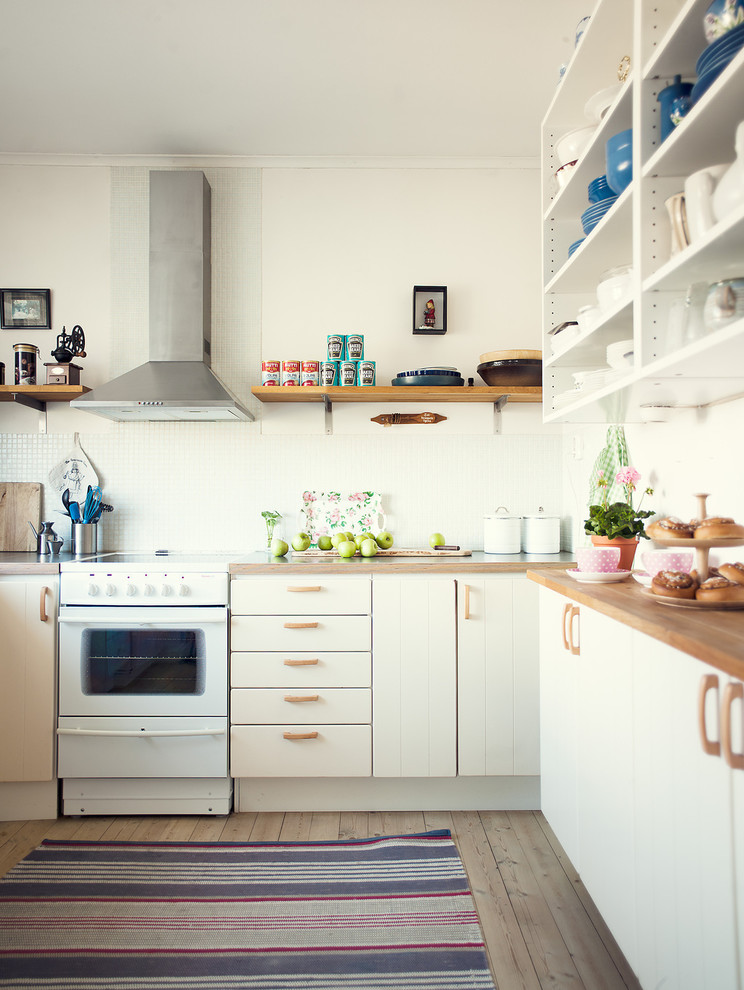
M 665 200 L 684 189 L 693 172 L 734 159 L 741 120 L 744 53 L 729 63 L 691 112 L 662 143 L 657 96 L 676 74 L 694 80 L 705 48 L 702 20 L 709 0 L 599 0 L 542 125 L 543 145 L 543 400 L 546 421 L 628 422 L 651 416 L 648 407 L 705 405 L 734 397 L 744 375 L 744 320 L 690 340 L 674 342 L 669 318 L 688 288 L 738 276 L 744 264 L 744 210 L 717 223 L 704 237 L 671 254 Z M 595 134 L 558 189 L 556 143 L 586 126 L 589 98 L 617 85 L 628 56 L 632 71 Z M 589 206 L 587 185 L 605 173 L 607 139 L 633 129 L 633 181 L 569 258 L 582 236 Z M 631 291 L 595 325 L 553 352 L 551 328 L 576 320 L 597 304 L 596 287 L 607 270 L 632 265 Z M 632 366 L 590 388 L 574 374 L 608 370 L 609 344 L 632 339 Z

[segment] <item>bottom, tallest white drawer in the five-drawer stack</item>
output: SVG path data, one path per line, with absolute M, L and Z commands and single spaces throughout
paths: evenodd
M 230 773 L 233 777 L 369 777 L 372 727 L 234 725 Z

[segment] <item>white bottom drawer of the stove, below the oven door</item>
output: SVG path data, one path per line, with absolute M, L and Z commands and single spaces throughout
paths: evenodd
M 59 729 L 59 777 L 224 777 L 227 772 L 224 717 L 65 716 Z

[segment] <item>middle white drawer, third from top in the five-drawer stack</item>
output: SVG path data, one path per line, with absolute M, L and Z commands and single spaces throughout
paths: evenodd
M 232 687 L 371 687 L 370 653 L 233 653 Z

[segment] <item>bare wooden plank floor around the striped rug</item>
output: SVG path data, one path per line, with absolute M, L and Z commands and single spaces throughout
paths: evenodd
M 640 990 L 540 812 L 271 812 L 0 822 L 0 875 L 45 838 L 216 842 L 367 838 L 448 828 L 499 990 Z

